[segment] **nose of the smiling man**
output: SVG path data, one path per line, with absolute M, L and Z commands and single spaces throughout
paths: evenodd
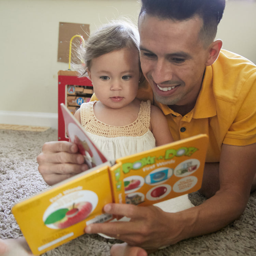
M 152 78 L 156 84 L 161 84 L 172 80 L 172 72 L 170 63 L 163 59 L 158 59 L 152 72 Z

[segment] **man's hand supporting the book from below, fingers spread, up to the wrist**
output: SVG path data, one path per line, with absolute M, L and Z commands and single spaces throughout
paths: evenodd
M 170 226 L 173 231 L 177 228 L 172 219 L 174 215 L 176 216 L 175 213 L 164 212 L 156 206 L 139 207 L 132 204 L 114 203 L 106 204 L 104 211 L 131 219 L 129 222 L 90 224 L 85 228 L 86 233 L 103 233 L 131 246 L 140 246 L 148 252 L 177 242 L 170 230 Z M 176 231 L 178 230 L 175 230 L 174 233 Z M 171 242 L 172 238 L 174 240 Z

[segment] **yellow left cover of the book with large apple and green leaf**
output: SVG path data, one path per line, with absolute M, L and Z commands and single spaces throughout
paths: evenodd
M 112 219 L 102 211 L 113 202 L 111 193 L 105 165 L 15 204 L 12 212 L 32 253 L 42 254 L 84 234 L 88 223 Z

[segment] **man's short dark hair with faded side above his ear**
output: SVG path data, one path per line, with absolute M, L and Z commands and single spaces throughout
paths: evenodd
M 140 16 L 148 14 L 159 19 L 186 20 L 199 15 L 203 20 L 200 37 L 205 45 L 215 38 L 222 19 L 225 0 L 141 0 Z

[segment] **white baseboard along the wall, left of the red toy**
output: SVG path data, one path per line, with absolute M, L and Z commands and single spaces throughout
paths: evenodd
M 45 126 L 58 129 L 58 114 L 0 110 L 0 123 L 10 125 Z

